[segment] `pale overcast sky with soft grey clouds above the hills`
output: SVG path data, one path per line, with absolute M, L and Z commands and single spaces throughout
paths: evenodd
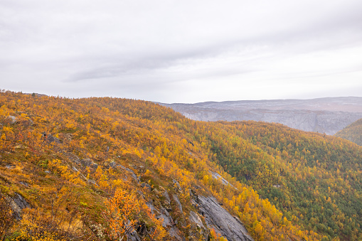
M 361 0 L 1 0 L 0 88 L 158 102 L 362 97 Z

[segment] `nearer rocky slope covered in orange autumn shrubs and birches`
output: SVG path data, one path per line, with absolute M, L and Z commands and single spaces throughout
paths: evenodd
M 209 161 L 196 134 L 203 123 L 171 109 L 9 91 L 1 92 L 0 105 L 1 238 L 323 237 L 287 220 Z

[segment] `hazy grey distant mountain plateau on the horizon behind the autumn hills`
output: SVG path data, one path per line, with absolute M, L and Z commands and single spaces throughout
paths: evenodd
M 312 100 L 241 100 L 196 104 L 161 104 L 200 121 L 276 122 L 306 132 L 336 134 L 362 118 L 362 97 Z

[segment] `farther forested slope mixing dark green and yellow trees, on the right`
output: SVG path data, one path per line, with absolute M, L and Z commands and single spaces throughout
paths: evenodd
M 225 171 L 268 198 L 289 220 L 329 237 L 358 239 L 360 146 L 280 124 L 218 124 L 218 132 L 211 129 L 206 135 L 211 159 Z

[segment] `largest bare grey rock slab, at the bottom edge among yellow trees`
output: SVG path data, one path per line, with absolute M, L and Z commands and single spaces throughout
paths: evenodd
M 213 227 L 228 240 L 251 241 L 243 223 L 222 208 L 214 197 L 198 196 L 198 212 L 205 218 L 208 228 Z

